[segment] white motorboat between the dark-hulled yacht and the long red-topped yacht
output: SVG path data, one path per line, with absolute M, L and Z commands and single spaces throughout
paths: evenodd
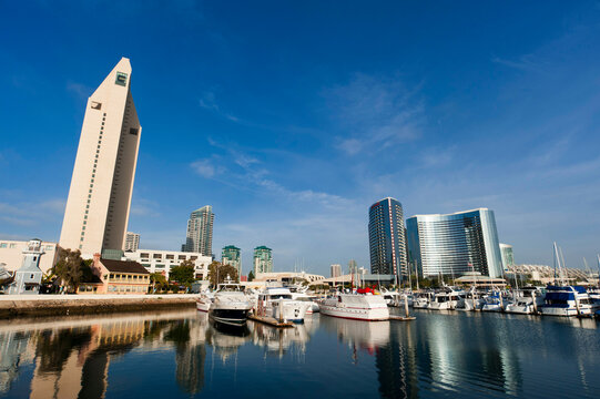
M 308 301 L 294 300 L 289 288 L 266 287 L 258 293 L 254 309 L 257 316 L 273 317 L 283 323 L 303 323 L 311 306 Z

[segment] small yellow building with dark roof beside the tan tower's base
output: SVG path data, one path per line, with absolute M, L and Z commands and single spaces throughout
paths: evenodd
M 150 272 L 138 262 L 103 259 L 94 255 L 91 266 L 94 278 L 80 284 L 79 294 L 145 294 Z

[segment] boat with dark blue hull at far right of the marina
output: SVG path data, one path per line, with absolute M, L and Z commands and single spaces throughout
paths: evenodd
M 548 286 L 540 313 L 545 316 L 591 316 L 592 300 L 581 286 Z

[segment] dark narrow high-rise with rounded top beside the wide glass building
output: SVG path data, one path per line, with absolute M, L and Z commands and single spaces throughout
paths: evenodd
M 368 213 L 370 273 L 406 275 L 406 241 L 401 204 L 391 197 L 373 204 Z

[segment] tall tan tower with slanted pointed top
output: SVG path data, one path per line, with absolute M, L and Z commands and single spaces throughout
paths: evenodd
M 142 127 L 121 61 L 88 99 L 60 246 L 91 257 L 123 249 Z

